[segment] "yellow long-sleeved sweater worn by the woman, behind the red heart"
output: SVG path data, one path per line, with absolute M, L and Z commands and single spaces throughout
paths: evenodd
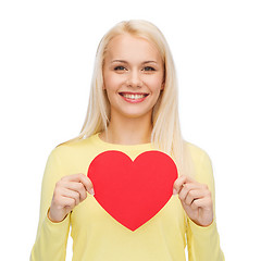
M 214 179 L 209 156 L 188 144 L 196 166 L 196 179 L 209 186 L 214 201 Z M 60 223 L 47 217 L 55 183 L 62 176 L 88 173 L 90 162 L 101 152 L 119 150 L 133 161 L 152 144 L 114 145 L 95 134 L 86 139 L 54 148 L 47 160 L 41 184 L 40 216 L 30 261 L 64 261 L 72 226 L 73 261 L 184 261 L 187 244 L 189 261 L 223 261 L 215 220 L 201 227 L 189 220 L 178 196 L 147 223 L 130 231 L 117 223 L 88 194 L 86 200 Z

